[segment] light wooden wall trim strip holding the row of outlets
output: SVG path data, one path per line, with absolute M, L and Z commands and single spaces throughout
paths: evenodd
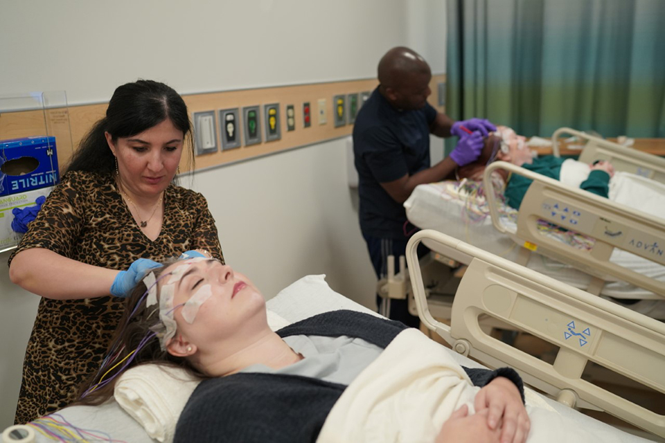
M 429 102 L 439 111 L 438 83 L 445 82 L 445 74 L 433 75 L 430 87 L 432 96 Z M 242 121 L 242 107 L 259 105 L 261 114 L 262 142 L 256 145 L 245 146 L 244 134 L 241 147 L 233 150 L 203 154 L 196 157 L 196 169 L 209 169 L 224 163 L 236 163 L 253 157 L 265 156 L 275 152 L 292 150 L 295 147 L 310 146 L 323 143 L 335 138 L 350 135 L 352 124 L 335 127 L 333 116 L 333 96 L 338 94 L 361 93 L 373 91 L 378 81 L 348 80 L 344 82 L 326 82 L 316 84 L 301 84 L 283 87 L 267 87 L 258 89 L 242 89 L 235 91 L 222 91 L 213 93 L 198 93 L 183 95 L 190 112 L 215 111 L 215 127 L 217 129 L 217 143 L 221 147 L 220 125 L 218 111 L 220 109 L 238 108 Z M 319 125 L 318 100 L 326 100 L 326 114 L 328 123 Z M 281 139 L 265 141 L 265 120 L 263 118 L 263 105 L 278 102 L 280 104 Z M 310 102 L 312 125 L 303 127 L 303 102 Z M 296 114 L 295 130 L 287 131 L 286 106 L 294 105 Z M 45 120 L 48 123 L 48 135 L 55 135 L 57 155 L 60 168 L 64 168 L 71 158 L 72 147 L 78 146 L 81 139 L 89 129 L 105 114 L 107 103 L 95 105 L 70 106 L 68 109 L 47 109 L 46 111 L 15 111 L 0 114 L 0 140 L 26 136 L 44 135 L 46 132 Z M 46 116 L 44 115 L 46 114 Z M 67 125 L 69 116 L 69 125 Z M 69 134 L 71 130 L 71 142 Z M 186 156 L 181 162 L 182 172 L 189 168 Z

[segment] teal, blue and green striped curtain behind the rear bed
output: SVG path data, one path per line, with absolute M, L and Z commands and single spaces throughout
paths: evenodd
M 665 1 L 447 0 L 446 74 L 455 120 L 665 137 Z

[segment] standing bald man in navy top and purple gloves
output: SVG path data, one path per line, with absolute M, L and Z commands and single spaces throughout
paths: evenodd
M 441 181 L 480 155 L 483 138 L 496 127 L 472 118 L 454 122 L 427 103 L 432 72 L 423 57 L 409 48 L 388 51 L 378 66 L 379 86 L 364 103 L 353 127 L 358 171 L 360 230 L 377 278 L 387 274 L 387 256 L 405 254 L 409 240 L 402 204 L 417 185 Z M 429 134 L 459 137 L 450 156 L 431 166 Z M 426 251 L 425 251 L 426 252 Z M 396 271 L 398 269 L 396 260 Z M 377 302 L 381 300 L 377 296 Z M 389 317 L 418 327 L 407 300 L 390 300 Z

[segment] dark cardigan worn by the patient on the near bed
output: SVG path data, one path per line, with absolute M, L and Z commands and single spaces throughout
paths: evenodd
M 379 347 L 406 329 L 402 323 L 356 311 L 332 311 L 280 329 L 292 335 L 350 336 Z M 507 377 L 520 389 L 511 368 L 464 368 L 475 386 Z M 199 383 L 177 423 L 175 442 L 314 442 L 345 385 L 311 377 L 245 373 Z

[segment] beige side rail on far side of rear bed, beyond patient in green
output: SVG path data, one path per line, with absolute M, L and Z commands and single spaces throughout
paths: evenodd
M 560 156 L 558 138 L 562 134 L 574 135 L 587 142 L 579 157 L 579 161 L 583 163 L 607 160 L 617 171 L 630 172 L 665 183 L 665 159 L 662 157 L 594 137 L 569 127 L 561 127 L 552 134 L 552 154 L 554 156 Z

